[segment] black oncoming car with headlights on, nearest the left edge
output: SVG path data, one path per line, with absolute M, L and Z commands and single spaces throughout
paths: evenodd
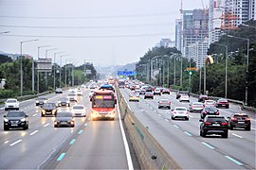
M 7 115 L 4 115 L 4 130 L 9 128 L 28 129 L 27 114 L 24 111 L 11 110 Z

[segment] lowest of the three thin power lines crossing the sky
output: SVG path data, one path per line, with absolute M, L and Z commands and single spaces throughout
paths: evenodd
M 132 38 L 132 37 L 155 37 L 167 36 L 171 33 L 156 33 L 156 34 L 130 34 L 130 35 L 101 35 L 101 36 L 55 36 L 55 35 L 22 35 L 22 34 L 9 34 L 2 35 L 6 37 L 35 37 L 35 38 L 55 38 L 55 39 L 94 39 L 94 38 Z

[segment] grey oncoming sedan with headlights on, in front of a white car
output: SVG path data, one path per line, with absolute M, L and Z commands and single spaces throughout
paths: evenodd
M 71 111 L 58 111 L 54 120 L 54 127 L 75 127 L 75 120 Z

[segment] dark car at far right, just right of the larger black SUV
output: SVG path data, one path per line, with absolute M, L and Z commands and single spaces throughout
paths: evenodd
M 229 129 L 242 127 L 250 130 L 250 118 L 246 113 L 232 113 L 229 117 Z

